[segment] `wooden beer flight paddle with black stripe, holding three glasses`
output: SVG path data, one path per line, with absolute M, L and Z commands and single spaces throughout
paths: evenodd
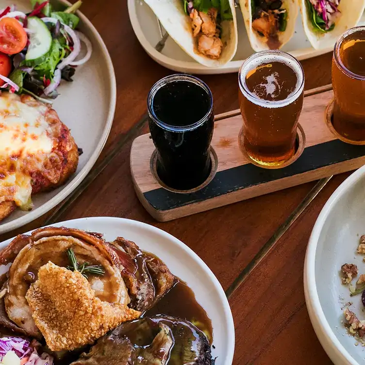
M 238 144 L 240 111 L 220 114 L 215 119 L 211 145 L 217 156 L 216 175 L 208 185 L 191 193 L 173 192 L 158 183 L 151 171 L 152 139 L 149 134 L 137 137 L 131 149 L 131 172 L 138 199 L 155 219 L 168 221 L 363 166 L 365 146 L 339 140 L 327 126 L 332 86 L 308 90 L 304 95 L 299 124 L 305 133 L 305 146 L 295 162 L 279 169 L 251 164 Z

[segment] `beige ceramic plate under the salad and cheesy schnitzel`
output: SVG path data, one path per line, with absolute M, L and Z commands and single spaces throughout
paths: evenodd
M 66 1 L 61 1 L 64 4 Z M 17 4 L 17 9 L 29 11 L 29 0 L 1 0 L 0 7 Z M 17 209 L 0 222 L 0 233 L 23 226 L 45 214 L 65 199 L 85 178 L 95 164 L 109 135 L 116 106 L 116 78 L 108 50 L 94 26 L 82 14 L 79 29 L 93 44 L 93 54 L 83 66 L 77 67 L 72 83 L 62 82 L 61 95 L 53 108 L 71 130 L 77 145 L 83 149 L 76 173 L 56 190 L 32 196 L 31 212 Z

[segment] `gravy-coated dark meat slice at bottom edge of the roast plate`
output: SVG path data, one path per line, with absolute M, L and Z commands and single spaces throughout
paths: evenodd
M 211 347 L 203 332 L 190 322 L 157 315 L 140 318 L 132 322 L 123 323 L 111 333 L 100 338 L 90 353 L 94 359 L 102 359 L 101 365 L 119 365 L 112 362 L 114 353 L 118 352 L 121 341 L 121 350 L 125 340 L 134 348 L 135 362 L 133 365 L 166 365 L 167 359 L 171 364 L 214 365 Z M 112 346 L 110 342 L 113 342 Z M 114 351 L 112 350 L 114 349 Z M 92 358 L 90 353 L 86 355 Z M 110 357 L 110 359 L 108 358 Z M 133 359 L 133 356 L 131 357 Z M 94 365 L 95 363 L 80 362 L 71 365 Z M 122 365 L 129 363 L 120 363 Z

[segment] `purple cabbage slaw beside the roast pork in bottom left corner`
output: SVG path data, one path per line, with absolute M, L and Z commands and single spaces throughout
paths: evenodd
M 48 353 L 38 355 L 37 345 L 39 343 L 36 341 L 30 343 L 20 337 L 2 337 L 0 338 L 0 359 L 2 360 L 9 351 L 14 351 L 22 365 L 53 365 L 53 357 Z

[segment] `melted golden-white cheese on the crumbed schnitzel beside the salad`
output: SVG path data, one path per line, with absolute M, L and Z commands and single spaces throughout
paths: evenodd
M 24 159 L 45 159 L 52 150 L 50 126 L 44 114 L 46 106 L 32 107 L 15 94 L 0 95 L 0 161 L 7 171 L 0 177 L 0 202 L 13 200 L 20 208 L 32 207 L 31 176 L 25 171 Z M 43 158 L 42 158 L 43 156 Z

